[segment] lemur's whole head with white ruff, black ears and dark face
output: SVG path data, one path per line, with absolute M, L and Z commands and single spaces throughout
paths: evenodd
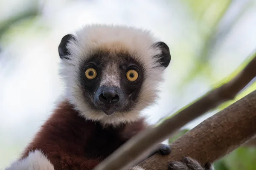
M 81 116 L 118 125 L 154 103 L 169 47 L 148 31 L 92 25 L 67 34 L 58 47 L 67 99 Z

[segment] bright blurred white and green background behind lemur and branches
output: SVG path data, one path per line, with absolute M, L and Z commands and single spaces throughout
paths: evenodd
M 151 124 L 233 77 L 256 49 L 255 0 L 0 0 L 0 169 L 18 158 L 62 93 L 61 38 L 89 23 L 146 28 L 169 45 L 160 99 L 143 111 Z M 255 170 L 256 148 L 240 147 L 215 167 Z

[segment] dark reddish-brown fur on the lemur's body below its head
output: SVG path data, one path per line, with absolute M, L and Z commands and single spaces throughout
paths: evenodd
M 20 159 L 37 149 L 47 155 L 55 170 L 91 170 L 144 128 L 143 119 L 129 125 L 102 127 L 99 122 L 79 116 L 69 102 L 62 102 Z

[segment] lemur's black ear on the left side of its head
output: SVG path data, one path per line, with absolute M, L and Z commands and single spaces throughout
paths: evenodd
M 70 54 L 70 52 L 67 49 L 67 43 L 70 40 L 76 40 L 76 37 L 72 34 L 67 34 L 61 39 L 61 43 L 58 46 L 58 52 L 61 59 L 69 59 L 67 55 Z

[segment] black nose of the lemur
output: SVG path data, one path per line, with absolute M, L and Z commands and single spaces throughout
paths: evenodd
M 99 95 L 99 100 L 104 103 L 116 103 L 119 101 L 119 96 L 113 89 L 107 88 Z

